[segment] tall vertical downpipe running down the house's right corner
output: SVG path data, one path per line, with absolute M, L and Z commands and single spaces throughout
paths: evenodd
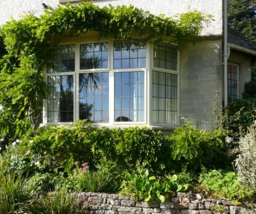
M 223 66 L 224 66 L 224 107 L 228 105 L 228 6 L 223 0 Z

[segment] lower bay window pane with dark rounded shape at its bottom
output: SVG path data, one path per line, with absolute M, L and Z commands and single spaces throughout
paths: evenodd
M 145 95 L 143 82 L 144 72 L 115 73 L 116 122 L 144 121 Z

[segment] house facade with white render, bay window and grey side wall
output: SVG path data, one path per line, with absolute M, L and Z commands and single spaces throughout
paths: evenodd
M 14 19 L 24 13 L 39 15 L 44 7 L 67 2 L 80 1 L 1 1 L 0 24 L 9 15 Z M 181 49 L 168 41 L 98 40 L 97 32 L 63 39 L 55 51 L 54 65 L 44 71 L 48 96 L 43 103 L 43 124 L 90 119 L 99 126 L 147 126 L 168 133 L 185 117 L 209 130 L 215 126 L 216 106 L 242 98 L 256 51 L 243 35 L 227 29 L 225 0 L 93 3 L 132 4 L 166 16 L 196 9 L 211 14 L 213 21 L 204 26 L 195 44 Z

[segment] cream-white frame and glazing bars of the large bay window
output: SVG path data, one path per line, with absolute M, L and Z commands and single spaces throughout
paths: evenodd
M 115 39 L 102 39 L 95 40 L 91 38 L 97 38 L 97 36 L 90 35 L 89 37 L 81 38 L 69 38 L 65 42 L 61 42 L 58 45 L 75 45 L 75 72 L 64 72 L 64 73 L 47 73 L 47 69 L 43 69 L 44 80 L 47 83 L 47 77 L 49 76 L 67 76 L 73 75 L 73 88 L 74 88 L 74 121 L 79 119 L 79 74 L 84 73 L 97 73 L 97 72 L 108 72 L 109 73 L 109 122 L 108 123 L 93 123 L 95 126 L 113 126 L 113 127 L 126 127 L 126 126 L 147 126 L 147 127 L 177 127 L 180 125 L 180 51 L 178 50 L 178 65 L 177 70 L 168 70 L 164 68 L 156 68 L 153 66 L 153 43 L 146 41 L 146 67 L 143 68 L 122 68 L 114 69 L 114 41 Z M 127 40 L 127 39 L 123 39 Z M 98 69 L 82 69 L 80 70 L 80 45 L 82 44 L 92 44 L 92 43 L 102 43 L 108 44 L 108 67 L 98 68 Z M 168 41 L 164 41 L 169 43 Z M 173 43 L 169 43 L 176 45 Z M 177 75 L 178 88 L 178 123 L 152 123 L 152 71 L 164 72 L 168 74 Z M 115 82 L 114 75 L 119 72 L 144 72 L 144 121 L 143 122 L 115 122 Z M 51 124 L 58 125 L 68 125 L 73 122 L 47 122 L 47 98 L 43 100 L 43 124 L 42 126 L 47 126 Z

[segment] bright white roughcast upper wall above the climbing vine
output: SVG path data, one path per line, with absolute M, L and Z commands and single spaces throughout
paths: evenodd
M 21 14 L 31 12 L 41 14 L 43 12 L 42 3 L 56 7 L 58 0 L 1 0 L 0 1 L 0 24 L 9 20 L 9 15 L 14 19 L 19 19 Z M 153 14 L 165 14 L 173 16 L 182 12 L 197 9 L 205 14 L 212 14 L 214 21 L 209 26 L 205 26 L 202 35 L 222 34 L 222 0 L 95 0 L 95 4 L 106 6 L 134 5 L 135 7 L 149 10 Z

